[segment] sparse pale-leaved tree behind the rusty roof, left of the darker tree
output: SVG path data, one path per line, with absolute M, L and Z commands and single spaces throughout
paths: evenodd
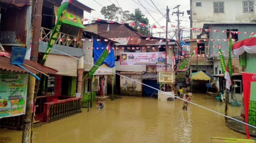
M 109 19 L 110 21 L 119 21 L 120 19 L 120 22 L 127 22 L 130 17 L 129 11 L 123 11 L 122 8 L 117 7 L 114 4 L 102 7 L 100 13 L 105 17 L 105 19 Z

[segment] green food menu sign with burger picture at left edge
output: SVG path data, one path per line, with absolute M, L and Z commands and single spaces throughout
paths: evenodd
M 28 74 L 0 70 L 0 118 L 25 114 Z

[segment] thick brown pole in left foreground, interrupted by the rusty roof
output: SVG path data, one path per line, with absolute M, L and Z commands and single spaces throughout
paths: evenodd
M 40 28 L 42 23 L 42 7 L 43 0 L 36 0 L 36 13 L 34 14 L 33 37 L 31 42 L 31 58 L 30 60 L 37 62 L 38 60 L 38 44 L 40 39 Z M 34 90 L 36 79 L 29 75 L 27 86 L 27 102 L 24 118 L 24 129 L 22 132 L 22 143 L 31 143 L 33 127 L 33 108 L 34 107 Z

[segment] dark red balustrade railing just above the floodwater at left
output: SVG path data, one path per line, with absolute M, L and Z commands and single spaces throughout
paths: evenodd
M 44 122 L 51 122 L 73 115 L 81 110 L 82 97 L 44 103 Z

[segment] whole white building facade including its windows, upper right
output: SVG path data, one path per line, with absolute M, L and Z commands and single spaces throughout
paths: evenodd
M 191 39 L 201 38 L 204 23 L 256 22 L 256 0 L 190 0 Z M 202 37 L 205 38 L 205 37 Z

